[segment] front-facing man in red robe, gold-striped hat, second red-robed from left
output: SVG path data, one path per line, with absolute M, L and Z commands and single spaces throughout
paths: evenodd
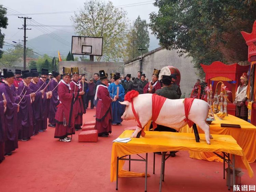
M 84 105 L 84 91 L 83 85 L 79 81 L 79 70 L 78 67 L 72 67 L 72 76 L 73 80 L 70 82 L 71 93 L 78 93 L 75 101 L 74 101 L 74 115 L 75 115 L 75 130 L 78 131 L 82 129 L 81 126 L 83 125 L 83 114 L 85 114 L 85 105 Z

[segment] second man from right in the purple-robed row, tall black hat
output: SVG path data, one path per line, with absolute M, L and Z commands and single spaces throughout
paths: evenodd
M 48 69 L 42 69 L 41 70 L 41 77 L 38 81 L 38 87 L 40 90 L 44 90 L 44 88 L 47 86 L 46 79 L 48 78 L 49 70 Z M 47 129 L 47 117 L 49 112 L 49 99 L 51 98 L 52 93 L 48 92 L 47 89 L 44 90 L 45 94 L 43 97 L 43 113 L 42 113 L 42 121 L 40 125 L 40 129 L 43 131 L 46 131 Z

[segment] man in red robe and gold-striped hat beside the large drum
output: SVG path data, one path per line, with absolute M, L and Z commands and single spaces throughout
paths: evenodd
M 161 89 L 161 84 L 158 81 L 161 70 L 154 69 L 152 75 L 152 81 L 148 82 L 143 88 L 143 93 L 155 93 L 156 90 Z

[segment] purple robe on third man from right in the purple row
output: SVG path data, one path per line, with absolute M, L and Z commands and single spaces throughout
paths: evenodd
M 40 125 L 42 124 L 42 93 L 41 91 L 36 92 L 39 87 L 38 84 L 30 83 L 30 90 L 32 93 L 35 93 L 35 99 L 32 103 L 33 108 L 33 133 L 38 134 L 38 131 L 41 129 Z M 46 95 L 45 95 L 46 96 Z

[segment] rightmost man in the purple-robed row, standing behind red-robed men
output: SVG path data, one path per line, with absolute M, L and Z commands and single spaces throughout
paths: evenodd
M 57 112 L 57 106 L 59 104 L 58 99 L 58 85 L 60 81 L 60 74 L 58 72 L 53 71 L 53 78 L 49 82 L 49 91 L 52 91 L 52 98 L 50 99 L 50 105 L 49 105 L 49 127 L 56 127 L 56 120 L 55 115 Z

